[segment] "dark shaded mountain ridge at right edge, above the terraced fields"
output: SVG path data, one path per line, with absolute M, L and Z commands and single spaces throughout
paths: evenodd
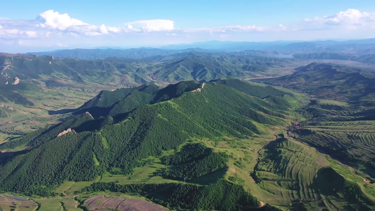
M 375 93 L 373 72 L 317 62 L 296 68 L 296 71 L 298 72 L 291 75 L 257 81 L 303 90 L 320 98 L 331 96 L 332 99 L 350 97 L 352 100 L 358 100 L 366 97 L 371 98 Z

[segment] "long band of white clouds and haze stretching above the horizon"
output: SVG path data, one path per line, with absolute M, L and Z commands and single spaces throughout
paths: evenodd
M 249 23 L 255 21 L 249 20 Z M 324 32 L 322 32 L 322 30 Z M 139 20 L 121 26 L 92 25 L 54 10 L 34 19 L 0 18 L 2 48 L 35 49 L 53 47 L 98 47 L 130 45 L 166 45 L 213 39 L 233 41 L 267 41 L 278 39 L 364 38 L 375 34 L 375 13 L 356 9 L 334 15 L 306 18 L 296 23 L 274 26 L 222 26 L 178 29 L 172 20 Z

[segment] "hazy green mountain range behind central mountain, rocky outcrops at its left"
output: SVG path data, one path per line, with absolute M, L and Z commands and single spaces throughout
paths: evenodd
M 160 49 L 157 49 L 158 51 Z M 282 69 L 293 59 L 246 56 L 256 51 L 227 53 L 184 52 L 147 59 L 107 57 L 106 59 L 55 58 L 33 54 L 0 53 L 0 101 L 33 105 L 24 91 L 58 89 L 71 84 L 134 86 L 144 83 L 168 84 L 182 80 L 210 81 L 232 76 L 253 78 Z M 243 56 L 244 55 L 244 56 Z M 13 85 L 15 78 L 18 84 Z

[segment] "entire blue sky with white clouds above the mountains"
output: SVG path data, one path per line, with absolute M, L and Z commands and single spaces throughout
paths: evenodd
M 1 8 L 7 53 L 375 35 L 374 0 L 12 0 Z

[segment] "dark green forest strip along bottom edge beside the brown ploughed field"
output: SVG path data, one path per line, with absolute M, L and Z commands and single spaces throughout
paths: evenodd
M 180 183 L 120 185 L 114 182 L 98 182 L 77 193 L 105 190 L 139 193 L 153 202 L 176 210 L 277 210 L 268 206 L 259 208 L 257 199 L 240 185 L 226 180 L 219 180 L 207 186 Z

